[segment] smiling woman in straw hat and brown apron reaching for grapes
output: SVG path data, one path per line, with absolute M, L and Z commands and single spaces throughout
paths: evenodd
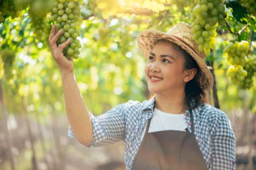
M 124 140 L 127 169 L 235 169 L 234 132 L 224 112 L 203 103 L 213 77 L 188 24 L 137 36 L 154 97 L 128 101 L 98 117 L 86 108 L 73 63 L 63 56 L 69 40 L 57 46 L 61 32 L 55 30 L 49 43 L 61 70 L 69 136 L 94 147 Z

